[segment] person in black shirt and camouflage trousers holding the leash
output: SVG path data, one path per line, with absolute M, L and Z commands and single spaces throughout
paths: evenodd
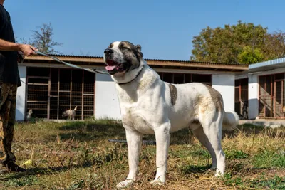
M 16 43 L 10 14 L 0 0 L 0 174 L 9 171 L 25 171 L 19 167 L 11 152 L 16 115 L 16 93 L 21 86 L 18 62 L 24 56 L 38 51 L 28 44 Z M 21 53 L 21 54 L 20 54 Z

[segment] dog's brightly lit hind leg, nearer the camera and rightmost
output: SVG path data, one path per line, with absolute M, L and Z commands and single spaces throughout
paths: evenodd
M 200 121 L 203 126 L 205 136 L 209 141 L 208 147 L 212 149 L 217 159 L 217 171 L 215 176 L 223 176 L 225 169 L 225 156 L 222 150 L 222 121 L 223 113 L 215 112 L 213 117 L 211 113 L 205 113 Z M 211 153 L 211 152 L 210 152 Z

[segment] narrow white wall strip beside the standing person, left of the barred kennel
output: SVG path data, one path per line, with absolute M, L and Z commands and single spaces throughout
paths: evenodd
M 16 99 L 16 120 L 24 120 L 25 118 L 25 101 L 26 101 L 26 66 L 19 65 L 19 74 L 21 78 L 21 86 L 17 90 Z

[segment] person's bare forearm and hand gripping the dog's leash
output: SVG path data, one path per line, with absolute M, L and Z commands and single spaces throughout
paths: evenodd
M 13 43 L 0 39 L 0 51 L 21 51 L 25 56 L 31 56 L 36 55 L 34 51 L 38 51 L 38 49 L 28 44 Z

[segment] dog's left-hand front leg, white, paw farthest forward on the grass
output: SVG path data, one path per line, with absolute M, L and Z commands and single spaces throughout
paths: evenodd
M 124 188 L 133 184 L 138 174 L 138 161 L 140 157 L 140 147 L 142 145 L 142 134 L 134 130 L 125 130 L 128 144 L 129 174 L 125 181 L 120 182 L 117 188 Z

